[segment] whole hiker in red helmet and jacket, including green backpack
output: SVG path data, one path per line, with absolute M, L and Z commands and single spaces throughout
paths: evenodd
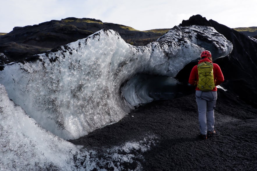
M 204 64 L 204 69 L 209 66 L 212 67 L 210 72 L 208 72 L 209 76 L 205 75 L 204 79 L 199 79 L 199 75 L 200 77 L 203 75 L 199 70 L 199 66 L 201 64 Z M 198 71 L 200 74 L 198 74 Z M 206 74 L 206 72 L 204 74 Z M 206 83 L 208 82 L 206 80 L 211 81 L 210 83 Z M 223 81 L 224 76 L 219 65 L 212 62 L 212 55 L 210 51 L 204 50 L 201 53 L 201 59 L 199 60 L 198 65 L 193 67 L 188 81 L 189 84 L 196 86 L 195 95 L 198 106 L 198 120 L 200 128 L 199 136 L 201 139 L 207 139 L 207 137 L 212 137 L 212 135 L 216 133 L 214 130 L 214 109 L 217 100 L 216 86 L 221 84 Z

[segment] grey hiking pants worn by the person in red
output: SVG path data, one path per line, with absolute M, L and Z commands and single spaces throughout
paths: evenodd
M 217 100 L 217 91 L 203 92 L 196 90 L 196 103 L 198 106 L 198 120 L 200 132 L 203 135 L 214 129 L 214 109 Z

